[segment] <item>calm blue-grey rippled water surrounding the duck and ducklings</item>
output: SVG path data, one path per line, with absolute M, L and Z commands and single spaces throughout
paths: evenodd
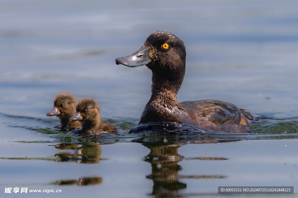
M 297 7 L 1 0 L 0 197 L 221 197 L 218 186 L 294 186 L 289 196 L 297 196 Z M 218 99 L 269 117 L 252 124 L 257 135 L 86 140 L 52 128 L 58 118 L 46 113 L 65 91 L 97 99 L 102 118 L 124 131 L 136 126 L 151 72 L 114 60 L 159 29 L 186 46 L 178 100 Z M 7 187 L 62 192 L 7 194 Z

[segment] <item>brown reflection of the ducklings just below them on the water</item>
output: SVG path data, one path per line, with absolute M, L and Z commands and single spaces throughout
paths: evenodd
M 53 145 L 60 150 L 71 150 L 69 152 L 61 152 L 55 154 L 55 157 L 60 158 L 60 161 L 74 161 L 76 163 L 95 164 L 101 160 L 101 147 L 98 144 L 59 144 Z M 75 151 L 75 152 L 73 152 Z

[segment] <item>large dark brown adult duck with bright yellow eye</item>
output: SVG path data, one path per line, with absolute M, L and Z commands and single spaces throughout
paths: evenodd
M 138 51 L 115 61 L 128 67 L 146 65 L 152 71 L 151 97 L 139 124 L 176 122 L 213 131 L 249 131 L 252 115 L 234 104 L 219 100 L 177 101 L 185 74 L 186 50 L 183 41 L 171 32 L 159 30 L 150 34 Z

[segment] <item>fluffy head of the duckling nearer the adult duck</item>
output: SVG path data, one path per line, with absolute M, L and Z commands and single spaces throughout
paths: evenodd
M 100 107 L 93 98 L 83 98 L 77 103 L 75 115 L 69 118 L 69 121 L 95 122 L 100 120 Z

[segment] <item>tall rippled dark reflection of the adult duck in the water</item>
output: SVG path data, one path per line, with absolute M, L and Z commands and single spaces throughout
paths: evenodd
M 182 197 L 181 189 L 187 188 L 187 184 L 179 179 L 185 178 L 225 178 L 223 175 L 179 175 L 182 167 L 178 162 L 184 160 L 184 156 L 178 154 L 178 148 L 187 143 L 143 143 L 150 149 L 150 153 L 144 157 L 144 161 L 151 164 L 152 174 L 146 178 L 153 180 L 152 195 L 155 197 Z M 189 158 L 200 160 L 225 160 L 221 157 Z

